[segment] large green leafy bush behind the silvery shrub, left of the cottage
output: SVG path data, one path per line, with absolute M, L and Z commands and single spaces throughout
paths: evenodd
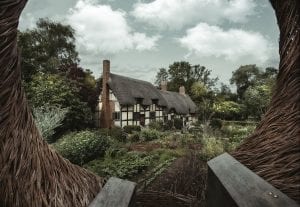
M 57 74 L 37 73 L 25 85 L 30 104 L 68 108 L 64 128 L 82 129 L 92 125 L 91 109 L 80 100 L 78 88 L 66 77 Z

